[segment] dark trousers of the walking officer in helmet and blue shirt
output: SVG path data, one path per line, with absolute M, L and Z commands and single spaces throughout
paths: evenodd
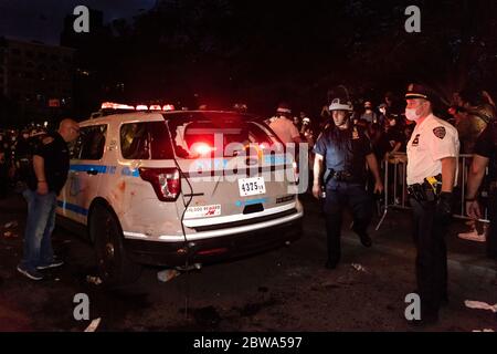
M 340 231 L 342 214 L 350 207 L 353 217 L 353 231 L 366 233 L 372 216 L 372 198 L 363 185 L 331 181 L 326 188 L 324 211 L 328 238 L 328 261 L 338 263 L 341 254 Z

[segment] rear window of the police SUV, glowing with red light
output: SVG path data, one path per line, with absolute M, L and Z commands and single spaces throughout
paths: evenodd
M 277 139 L 263 123 L 248 115 L 221 112 L 193 112 L 167 115 L 176 155 L 198 158 L 222 148 L 216 156 L 231 157 L 250 144 L 272 146 Z M 221 146 L 215 146 L 222 142 Z M 220 144 L 221 145 L 221 144 Z

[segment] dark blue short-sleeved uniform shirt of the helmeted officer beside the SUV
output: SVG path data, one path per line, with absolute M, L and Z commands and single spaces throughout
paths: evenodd
M 340 144 L 340 140 L 343 143 Z M 330 127 L 318 137 L 314 152 L 325 157 L 326 169 L 347 171 L 358 183 L 366 181 L 366 156 L 372 154 L 372 149 L 371 142 L 361 129 L 339 131 Z

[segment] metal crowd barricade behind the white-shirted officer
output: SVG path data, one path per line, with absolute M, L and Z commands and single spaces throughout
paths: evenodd
M 465 199 L 466 199 L 466 180 L 467 173 L 470 168 L 470 159 L 473 155 L 459 155 L 457 186 L 461 187 L 461 208 L 453 215 L 453 217 L 458 219 L 468 219 L 465 215 Z M 389 159 L 382 162 L 382 173 L 384 174 L 384 200 L 382 202 L 382 212 L 380 221 L 377 225 L 376 230 L 378 231 L 387 218 L 390 208 L 395 209 L 411 209 L 406 194 L 406 169 L 408 169 L 408 155 L 405 153 L 391 154 Z M 486 174 L 488 174 L 488 168 Z M 392 179 L 392 181 L 391 181 Z M 488 210 L 484 209 L 485 219 L 479 219 L 482 222 L 489 222 Z

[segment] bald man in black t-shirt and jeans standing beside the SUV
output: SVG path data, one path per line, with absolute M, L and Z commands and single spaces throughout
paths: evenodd
M 56 197 L 67 179 L 70 154 L 67 144 L 80 134 L 72 119 L 64 119 L 59 131 L 42 139 L 33 154 L 33 173 L 23 196 L 28 202 L 24 251 L 18 271 L 29 279 L 42 280 L 42 269 L 63 264 L 53 254 L 52 231 L 55 226 Z

